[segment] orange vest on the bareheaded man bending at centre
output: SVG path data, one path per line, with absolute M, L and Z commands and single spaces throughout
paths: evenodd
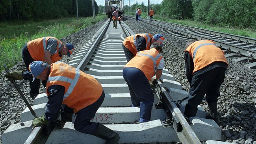
M 143 50 L 137 53 L 124 67 L 134 67 L 140 69 L 148 81 L 154 76 L 156 68 L 163 58 L 156 49 Z

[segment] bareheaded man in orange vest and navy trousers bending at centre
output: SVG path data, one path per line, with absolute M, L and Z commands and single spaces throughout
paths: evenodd
M 163 70 L 163 48 L 153 43 L 150 50 L 143 50 L 129 61 L 122 71 L 131 95 L 132 107 L 140 107 L 139 122 L 148 122 L 154 103 L 154 94 L 149 81 L 160 79 Z M 154 76 L 156 72 L 156 76 Z

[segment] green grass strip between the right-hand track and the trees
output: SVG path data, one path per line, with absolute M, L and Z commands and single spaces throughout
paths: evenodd
M 142 13 L 141 17 L 147 18 L 147 14 Z M 171 23 L 177 23 L 181 25 L 187 25 L 191 27 L 198 27 L 202 29 L 208 29 L 212 31 L 218 31 L 218 32 L 224 32 L 228 34 L 235 34 L 239 36 L 246 36 L 249 38 L 256 38 L 256 30 L 255 29 L 243 29 L 243 28 L 235 28 L 235 27 L 229 27 L 229 26 L 219 26 L 219 25 L 207 25 L 203 22 L 196 22 L 193 20 L 174 20 L 174 19 L 169 19 L 169 18 L 164 18 L 163 16 L 160 15 L 154 15 L 153 16 L 154 20 L 161 20 L 165 22 L 171 22 Z

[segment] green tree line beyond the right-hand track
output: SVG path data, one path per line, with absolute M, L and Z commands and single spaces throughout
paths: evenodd
M 130 6 L 130 14 L 138 7 L 147 13 L 147 4 L 136 3 Z M 150 7 L 163 18 L 256 29 L 256 0 L 163 0 Z M 128 13 L 127 3 L 124 11 Z

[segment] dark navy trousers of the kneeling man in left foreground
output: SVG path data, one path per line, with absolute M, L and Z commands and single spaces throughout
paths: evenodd
M 100 108 L 105 98 L 104 91 L 102 92 L 100 98 L 93 104 L 86 106 L 82 110 L 79 110 L 76 113 L 76 120 L 74 122 L 74 128 L 77 131 L 87 134 L 93 134 L 98 128 L 98 123 L 91 122 L 91 119 L 94 118 L 98 108 Z

